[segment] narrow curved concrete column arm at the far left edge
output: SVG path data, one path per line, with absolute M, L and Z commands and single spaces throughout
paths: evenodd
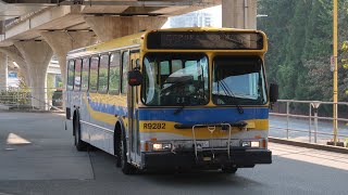
M 21 73 L 24 77 L 24 82 L 27 87 L 30 87 L 30 77 L 28 73 L 28 68 L 26 66 L 26 63 L 20 53 L 20 51 L 14 47 L 7 47 L 7 48 L 0 48 L 0 52 L 7 54 L 9 57 L 11 57 L 21 68 Z

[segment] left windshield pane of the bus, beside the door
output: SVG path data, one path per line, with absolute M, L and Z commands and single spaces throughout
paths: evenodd
M 208 57 L 203 53 L 150 53 L 144 58 L 141 100 L 152 106 L 209 102 Z

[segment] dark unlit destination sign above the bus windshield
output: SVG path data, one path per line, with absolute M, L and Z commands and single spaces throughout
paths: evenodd
M 172 50 L 262 50 L 259 32 L 154 31 L 147 38 L 148 49 Z

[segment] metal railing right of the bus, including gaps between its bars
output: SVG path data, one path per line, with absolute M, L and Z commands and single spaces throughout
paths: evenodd
M 348 103 L 338 102 L 338 116 L 331 116 L 333 102 L 279 100 L 270 113 L 270 135 L 309 143 L 348 145 Z M 276 109 L 278 109 L 276 112 Z M 347 114 L 347 116 L 339 117 Z M 332 122 L 337 120 L 337 131 Z M 281 133 L 278 130 L 285 132 Z M 307 136 L 307 138 L 306 138 Z

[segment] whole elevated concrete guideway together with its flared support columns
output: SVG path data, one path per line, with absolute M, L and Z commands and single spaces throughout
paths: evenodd
M 0 0 L 0 52 L 20 65 L 27 86 L 36 89 L 45 87 L 47 58 L 55 54 L 64 83 L 70 50 L 160 28 L 169 16 L 219 4 L 224 27 L 256 28 L 256 0 Z M 1 60 L 0 74 L 4 67 Z M 41 92 L 32 95 L 45 100 Z

